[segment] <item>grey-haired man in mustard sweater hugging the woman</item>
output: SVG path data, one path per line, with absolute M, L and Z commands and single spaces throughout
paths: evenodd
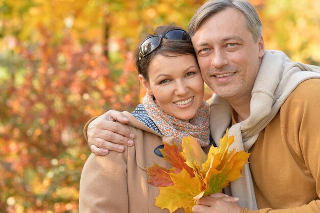
M 193 211 L 320 212 L 320 67 L 265 51 L 261 21 L 244 0 L 205 3 L 189 33 L 203 80 L 215 92 L 215 142 L 230 128 L 236 148 L 252 152 L 243 177 L 226 189 L 240 198 L 238 204 L 213 194 L 199 199 Z M 113 121 L 126 123 L 110 110 L 89 124 L 95 153 L 101 152 L 97 147 L 122 151 L 122 145 L 132 145 L 134 135 Z

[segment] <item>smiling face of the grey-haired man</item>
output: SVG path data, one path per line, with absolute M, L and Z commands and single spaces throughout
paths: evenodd
M 192 42 L 204 82 L 228 101 L 249 101 L 264 42 L 262 36 L 254 41 L 245 16 L 227 8 L 205 20 Z

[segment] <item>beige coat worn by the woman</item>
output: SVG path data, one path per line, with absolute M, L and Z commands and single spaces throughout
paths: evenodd
M 92 153 L 88 157 L 80 180 L 79 213 L 169 212 L 154 205 L 159 190 L 147 182 L 145 168 L 152 167 L 153 162 L 171 168 L 153 151 L 163 140 L 172 144 L 174 138 L 164 138 L 129 112 L 123 113 L 130 121 L 124 126 L 135 134 L 134 145 L 126 147 L 123 153 L 110 152 L 106 156 Z

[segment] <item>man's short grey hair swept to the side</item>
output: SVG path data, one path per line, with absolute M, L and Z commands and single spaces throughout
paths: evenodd
M 188 31 L 193 36 L 207 18 L 226 8 L 239 10 L 246 18 L 247 29 L 252 33 L 254 41 L 262 35 L 262 23 L 255 7 L 245 0 L 209 0 L 204 3 L 189 22 Z

